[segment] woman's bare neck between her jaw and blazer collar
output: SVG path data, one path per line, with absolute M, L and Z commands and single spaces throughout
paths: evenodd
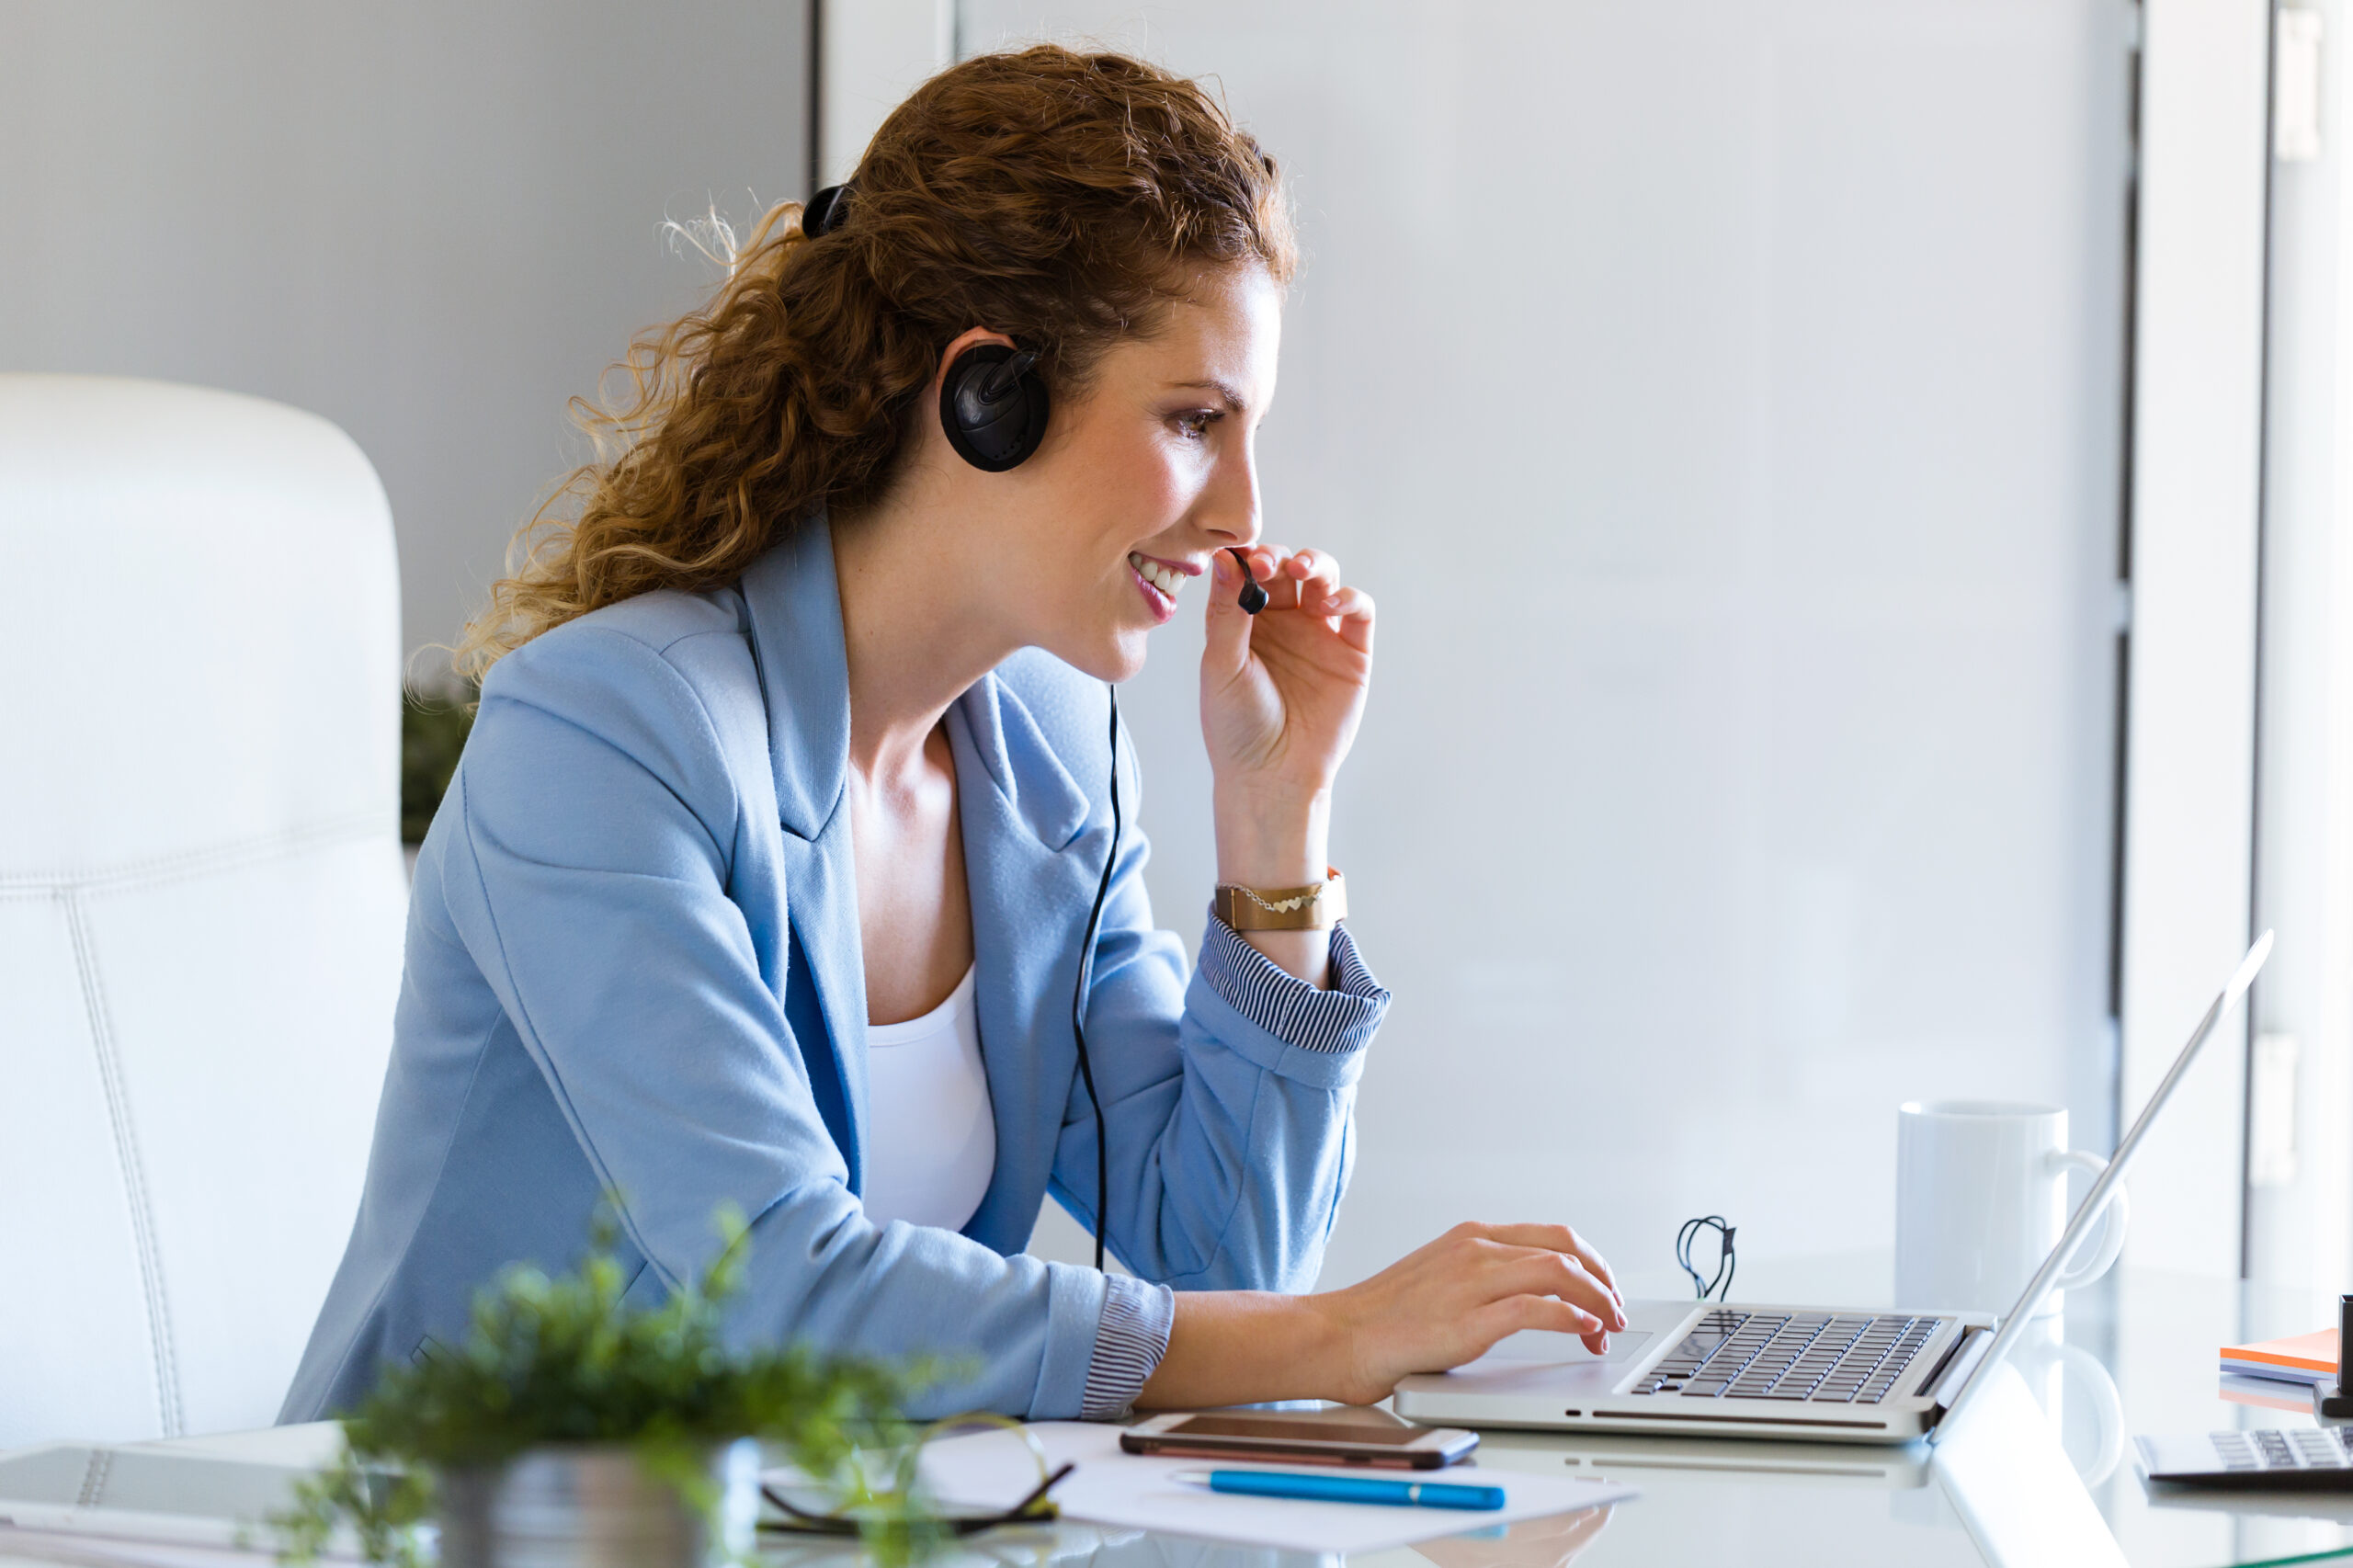
M 974 680 L 1021 643 L 969 530 L 885 497 L 833 525 L 849 664 L 849 765 L 868 779 L 922 765 L 922 746 Z

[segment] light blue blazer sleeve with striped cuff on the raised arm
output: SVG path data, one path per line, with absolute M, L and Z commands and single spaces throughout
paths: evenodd
M 1120 760 L 1134 779 L 1125 739 Z M 1144 833 L 1125 829 L 1087 984 L 1111 1137 L 1104 1241 L 1176 1290 L 1308 1290 L 1348 1187 L 1355 1081 L 1388 991 L 1346 935 L 1337 984 L 1318 991 L 1217 918 L 1188 975 L 1176 937 L 1153 925 L 1146 857 Z M 1094 1140 L 1073 1083 L 1052 1191 L 1089 1229 Z

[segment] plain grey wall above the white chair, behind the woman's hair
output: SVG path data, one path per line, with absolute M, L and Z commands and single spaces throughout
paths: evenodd
M 807 0 L 9 0 L 0 370 L 334 419 L 407 647 L 449 640 L 574 461 L 565 400 L 711 283 L 661 219 L 807 193 Z

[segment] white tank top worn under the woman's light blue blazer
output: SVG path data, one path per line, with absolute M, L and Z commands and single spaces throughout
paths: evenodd
M 875 1224 L 960 1231 L 998 1172 L 974 972 L 922 1017 L 866 1026 L 866 1217 Z

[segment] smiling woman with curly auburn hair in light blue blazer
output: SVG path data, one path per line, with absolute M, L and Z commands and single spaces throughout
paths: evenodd
M 1322 918 L 1372 600 L 1259 544 L 1273 160 L 1193 82 L 1040 47 L 927 82 L 816 235 L 795 219 L 640 344 L 576 520 L 468 633 L 482 706 L 285 1417 L 461 1333 L 501 1264 L 574 1255 L 605 1194 L 633 1297 L 734 1203 L 746 1337 L 958 1356 L 944 1408 L 1374 1401 L 1520 1328 L 1624 1328 L 1544 1224 L 1297 1295 L 1388 996 Z M 981 403 L 1014 396 L 1014 348 L 1042 440 L 974 459 L 944 384 L 988 365 Z M 1099 685 L 1186 591 L 1219 883 L 1235 923 L 1292 925 L 1212 918 L 1193 975 Z M 1049 1191 L 1141 1278 L 1021 1255 Z

